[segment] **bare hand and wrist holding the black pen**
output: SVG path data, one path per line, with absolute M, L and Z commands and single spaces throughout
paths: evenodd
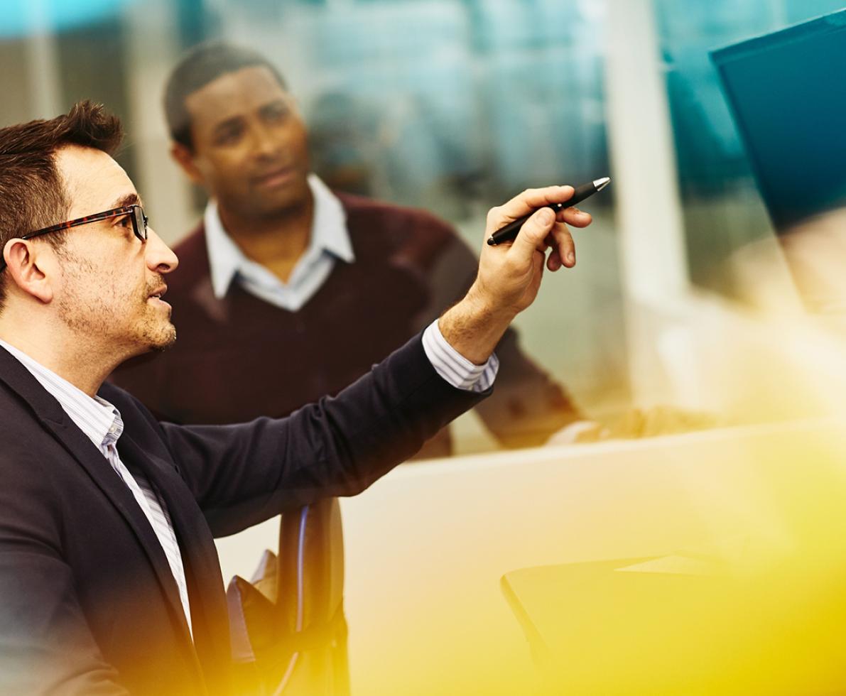
M 488 212 L 485 239 L 508 222 L 534 211 L 514 242 L 483 245 L 475 282 L 464 299 L 438 322 L 443 337 L 466 359 L 475 364 L 486 361 L 508 324 L 534 302 L 545 262 L 550 271 L 575 266 L 575 245 L 567 225 L 587 227 L 591 216 L 576 208 L 564 208 L 556 214 L 545 207 L 566 203 L 573 191 L 572 186 L 526 189 Z M 547 258 L 548 249 L 552 253 Z

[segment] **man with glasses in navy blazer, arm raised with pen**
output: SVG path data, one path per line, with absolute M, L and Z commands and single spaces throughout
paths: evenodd
M 485 397 L 544 251 L 571 266 L 563 222 L 585 224 L 543 207 L 573 189 L 526 191 L 490 212 L 485 236 L 538 209 L 483 249 L 467 296 L 338 397 L 171 425 L 103 384 L 176 337 L 178 260 L 110 156 L 120 138 L 87 102 L 0 129 L 0 693 L 228 693 L 213 535 L 364 490 Z

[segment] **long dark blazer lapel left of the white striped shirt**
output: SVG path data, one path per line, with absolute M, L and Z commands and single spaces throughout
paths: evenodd
M 167 597 L 170 605 L 173 620 L 182 627 L 184 638 L 190 643 L 188 624 L 185 622 L 182 602 L 179 600 L 179 589 L 168 565 L 168 558 L 146 515 L 135 501 L 132 491 L 120 480 L 111 464 L 91 440 L 74 425 L 58 401 L 39 384 L 18 359 L 3 348 L 0 348 L 0 381 L 6 382 L 14 392 L 29 403 L 36 418 L 41 420 L 42 425 L 80 463 L 91 480 L 102 490 L 132 528 L 156 572 L 162 594 Z M 121 437 L 121 440 L 123 439 Z

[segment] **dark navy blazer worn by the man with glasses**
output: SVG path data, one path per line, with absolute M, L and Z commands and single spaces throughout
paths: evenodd
M 132 493 L 0 348 L 0 693 L 228 693 L 212 538 L 364 490 L 486 393 L 443 381 L 420 335 L 337 397 L 285 419 L 160 423 L 103 385 L 124 419 L 121 459 L 157 486 L 173 520 L 192 643 L 167 558 Z

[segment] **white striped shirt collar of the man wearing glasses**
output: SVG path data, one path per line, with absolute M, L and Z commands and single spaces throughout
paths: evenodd
M 118 409 L 102 397 L 90 397 L 52 370 L 30 358 L 19 348 L 0 339 L 0 346 L 12 353 L 47 392 L 58 401 L 74 424 L 85 433 L 96 447 L 118 441 L 124 431 L 124 421 Z

